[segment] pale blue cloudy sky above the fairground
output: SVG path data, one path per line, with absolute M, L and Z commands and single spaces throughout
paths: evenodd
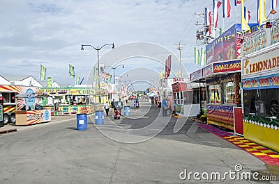
M 223 10 L 219 9 L 218 24 L 223 29 L 240 22 L 240 6 L 235 9 L 233 3 L 231 0 L 229 19 L 223 19 Z M 271 0 L 266 3 L 268 15 Z M 250 22 L 255 22 L 257 1 L 247 0 L 246 6 L 251 10 Z M 212 1 L 1 0 L 0 75 L 31 75 L 39 79 L 40 65 L 44 65 L 47 76 L 54 81 L 73 84 L 75 80 L 68 74 L 71 64 L 75 73 L 87 81 L 97 63 L 97 51 L 91 47 L 81 51 L 81 44 L 97 48 L 114 42 L 116 49 L 112 51 L 107 45 L 99 52 L 100 63 L 107 66 L 107 72 L 113 73 L 109 66 L 123 64 L 124 69 L 117 67 L 114 72 L 119 76 L 128 74 L 126 81 L 156 83 L 156 72 L 163 69 L 169 54 L 173 72 L 179 71 L 179 51 L 174 44 L 181 42 L 186 44 L 181 53 L 183 76 L 187 76 L 187 72 L 200 67 L 194 65 L 193 47 L 202 47 L 195 39 L 195 31 L 201 26 L 195 24 L 204 23 L 204 19 L 194 14 L 202 14 L 204 7 L 212 10 Z

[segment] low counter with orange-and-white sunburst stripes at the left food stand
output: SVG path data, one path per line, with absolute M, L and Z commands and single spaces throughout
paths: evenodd
M 15 125 L 31 125 L 50 122 L 52 117 L 49 109 L 43 110 L 20 110 L 15 112 Z

